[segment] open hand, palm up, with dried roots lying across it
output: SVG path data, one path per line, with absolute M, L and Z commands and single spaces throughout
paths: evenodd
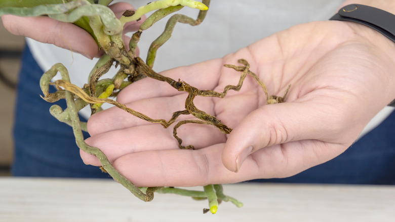
M 340 30 L 340 31 L 337 31 Z M 119 108 L 93 115 L 92 137 L 112 164 L 136 186 L 204 186 L 256 178 L 288 177 L 344 152 L 375 114 L 395 95 L 395 46 L 359 24 L 323 21 L 294 26 L 247 48 L 163 72 L 199 89 L 219 92 L 236 85 L 240 72 L 223 67 L 244 58 L 285 103 L 265 105 L 265 95 L 248 77 L 240 92 L 223 99 L 197 97 L 201 110 L 233 128 L 229 135 L 208 125 L 172 127 L 147 123 Z M 149 78 L 124 89 L 117 100 L 155 119 L 184 108 L 185 93 Z M 180 119 L 191 118 L 184 115 Z M 173 125 L 174 126 L 174 125 Z M 81 153 L 85 163 L 98 160 Z

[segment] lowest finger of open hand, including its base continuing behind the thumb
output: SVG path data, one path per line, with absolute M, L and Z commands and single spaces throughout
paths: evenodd
M 344 150 L 321 141 L 274 145 L 250 155 L 243 167 L 231 172 L 221 162 L 223 143 L 201 150 L 162 150 L 128 154 L 113 166 L 139 187 L 193 187 L 234 183 L 257 178 L 288 177 L 323 163 Z M 317 153 L 328 153 L 326 158 Z M 301 158 L 293 158 L 299 156 Z

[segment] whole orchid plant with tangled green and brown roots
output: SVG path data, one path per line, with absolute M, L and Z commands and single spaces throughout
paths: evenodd
M 196 96 L 223 98 L 229 90 L 239 91 L 247 75 L 252 76 L 264 89 L 267 103 L 283 102 L 286 96 L 286 94 L 284 97 L 268 96 L 265 85 L 255 73 L 249 70 L 249 64 L 244 59 L 239 60 L 242 63 L 241 66 L 225 65 L 226 67 L 242 72 L 242 75 L 238 85 L 228 85 L 222 93 L 211 90 L 199 90 L 184 81 L 164 77 L 152 69 L 157 49 L 170 38 L 176 23 L 187 23 L 193 26 L 199 25 L 206 16 L 210 0 L 203 0 L 202 2 L 193 0 L 159 0 L 148 3 L 135 11 L 126 10 L 120 19 L 117 19 L 114 13 L 107 7 L 111 2 L 112 0 L 2 0 L 0 2 L 0 16 L 5 14 L 16 16 L 48 16 L 58 21 L 73 23 L 89 32 L 95 39 L 98 48 L 104 51 L 104 54 L 97 61 L 92 71 L 87 73 L 88 82 L 82 88 L 71 83 L 68 71 L 61 63 L 53 65 L 46 71 L 39 82 L 43 91 L 43 99 L 48 102 L 55 102 L 60 99 L 66 100 L 66 109 L 63 110 L 60 106 L 53 105 L 50 108 L 50 113 L 59 121 L 72 127 L 78 147 L 86 153 L 96 156 L 104 172 L 107 172 L 143 201 L 151 201 L 154 192 L 157 192 L 174 193 L 193 197 L 194 199 L 208 199 L 209 208 L 204 209 L 204 212 L 210 211 L 211 213 L 215 213 L 221 201 L 230 201 L 238 207 L 243 206 L 238 200 L 224 195 L 220 184 L 204 186 L 203 191 L 191 191 L 173 187 L 136 187 L 111 165 L 103 152 L 97 147 L 85 143 L 82 130 L 86 131 L 87 125 L 85 122 L 80 121 L 77 113 L 78 110 L 87 105 L 90 105 L 91 112 L 94 114 L 101 110 L 101 104 L 110 103 L 137 118 L 151 123 L 161 124 L 165 128 L 170 127 L 180 115 L 192 115 L 196 118 L 195 120 L 182 120 L 175 124 L 173 135 L 177 139 L 180 149 L 194 149 L 193 145 L 181 145 L 182 139 L 177 136 L 177 128 L 181 125 L 187 123 L 209 124 L 214 125 L 223 133 L 230 133 L 232 130 L 221 123 L 216 117 L 198 109 L 193 104 L 193 99 Z M 143 61 L 140 57 L 136 56 L 136 48 L 141 33 L 150 28 L 155 22 L 181 10 L 183 7 L 200 10 L 198 17 L 192 19 L 182 14 L 171 16 L 166 24 L 165 31 L 152 42 L 147 52 L 146 60 Z M 140 20 L 141 16 L 151 11 L 154 12 L 141 23 L 138 31 L 132 35 L 130 42 L 127 43 L 129 46 L 129 50 L 127 50 L 126 43 L 122 41 L 124 24 L 130 21 Z M 111 79 L 101 79 L 111 66 L 118 68 L 115 75 Z M 52 82 L 52 79 L 57 73 L 60 73 L 61 80 Z M 147 115 L 136 112 L 126 105 L 109 98 L 116 97 L 117 93 L 125 87 L 146 77 L 167 82 L 175 90 L 188 93 L 185 109 L 175 112 L 168 121 L 164 119 L 151 119 Z M 55 93 L 49 93 L 50 85 L 56 87 L 57 91 Z

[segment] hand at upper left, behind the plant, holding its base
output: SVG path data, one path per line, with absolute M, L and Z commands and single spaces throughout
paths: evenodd
M 134 9 L 128 3 L 115 3 L 109 8 L 117 18 L 120 18 L 125 10 Z M 71 49 L 90 59 L 101 55 L 99 48 L 92 36 L 84 29 L 67 22 L 60 22 L 49 17 L 18 17 L 3 15 L 3 24 L 8 31 L 15 35 L 24 35 L 38 42 L 54 44 L 64 49 Z M 125 33 L 136 31 L 144 19 L 136 22 L 128 22 L 124 26 L 124 42 L 130 38 Z M 128 44 L 126 44 L 128 47 Z

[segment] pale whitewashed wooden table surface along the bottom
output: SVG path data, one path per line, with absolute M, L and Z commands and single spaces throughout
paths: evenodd
M 0 177 L 0 221 L 395 221 L 395 186 L 240 183 L 224 193 L 244 206 L 203 214 L 206 201 L 155 194 L 145 203 L 110 179 Z

